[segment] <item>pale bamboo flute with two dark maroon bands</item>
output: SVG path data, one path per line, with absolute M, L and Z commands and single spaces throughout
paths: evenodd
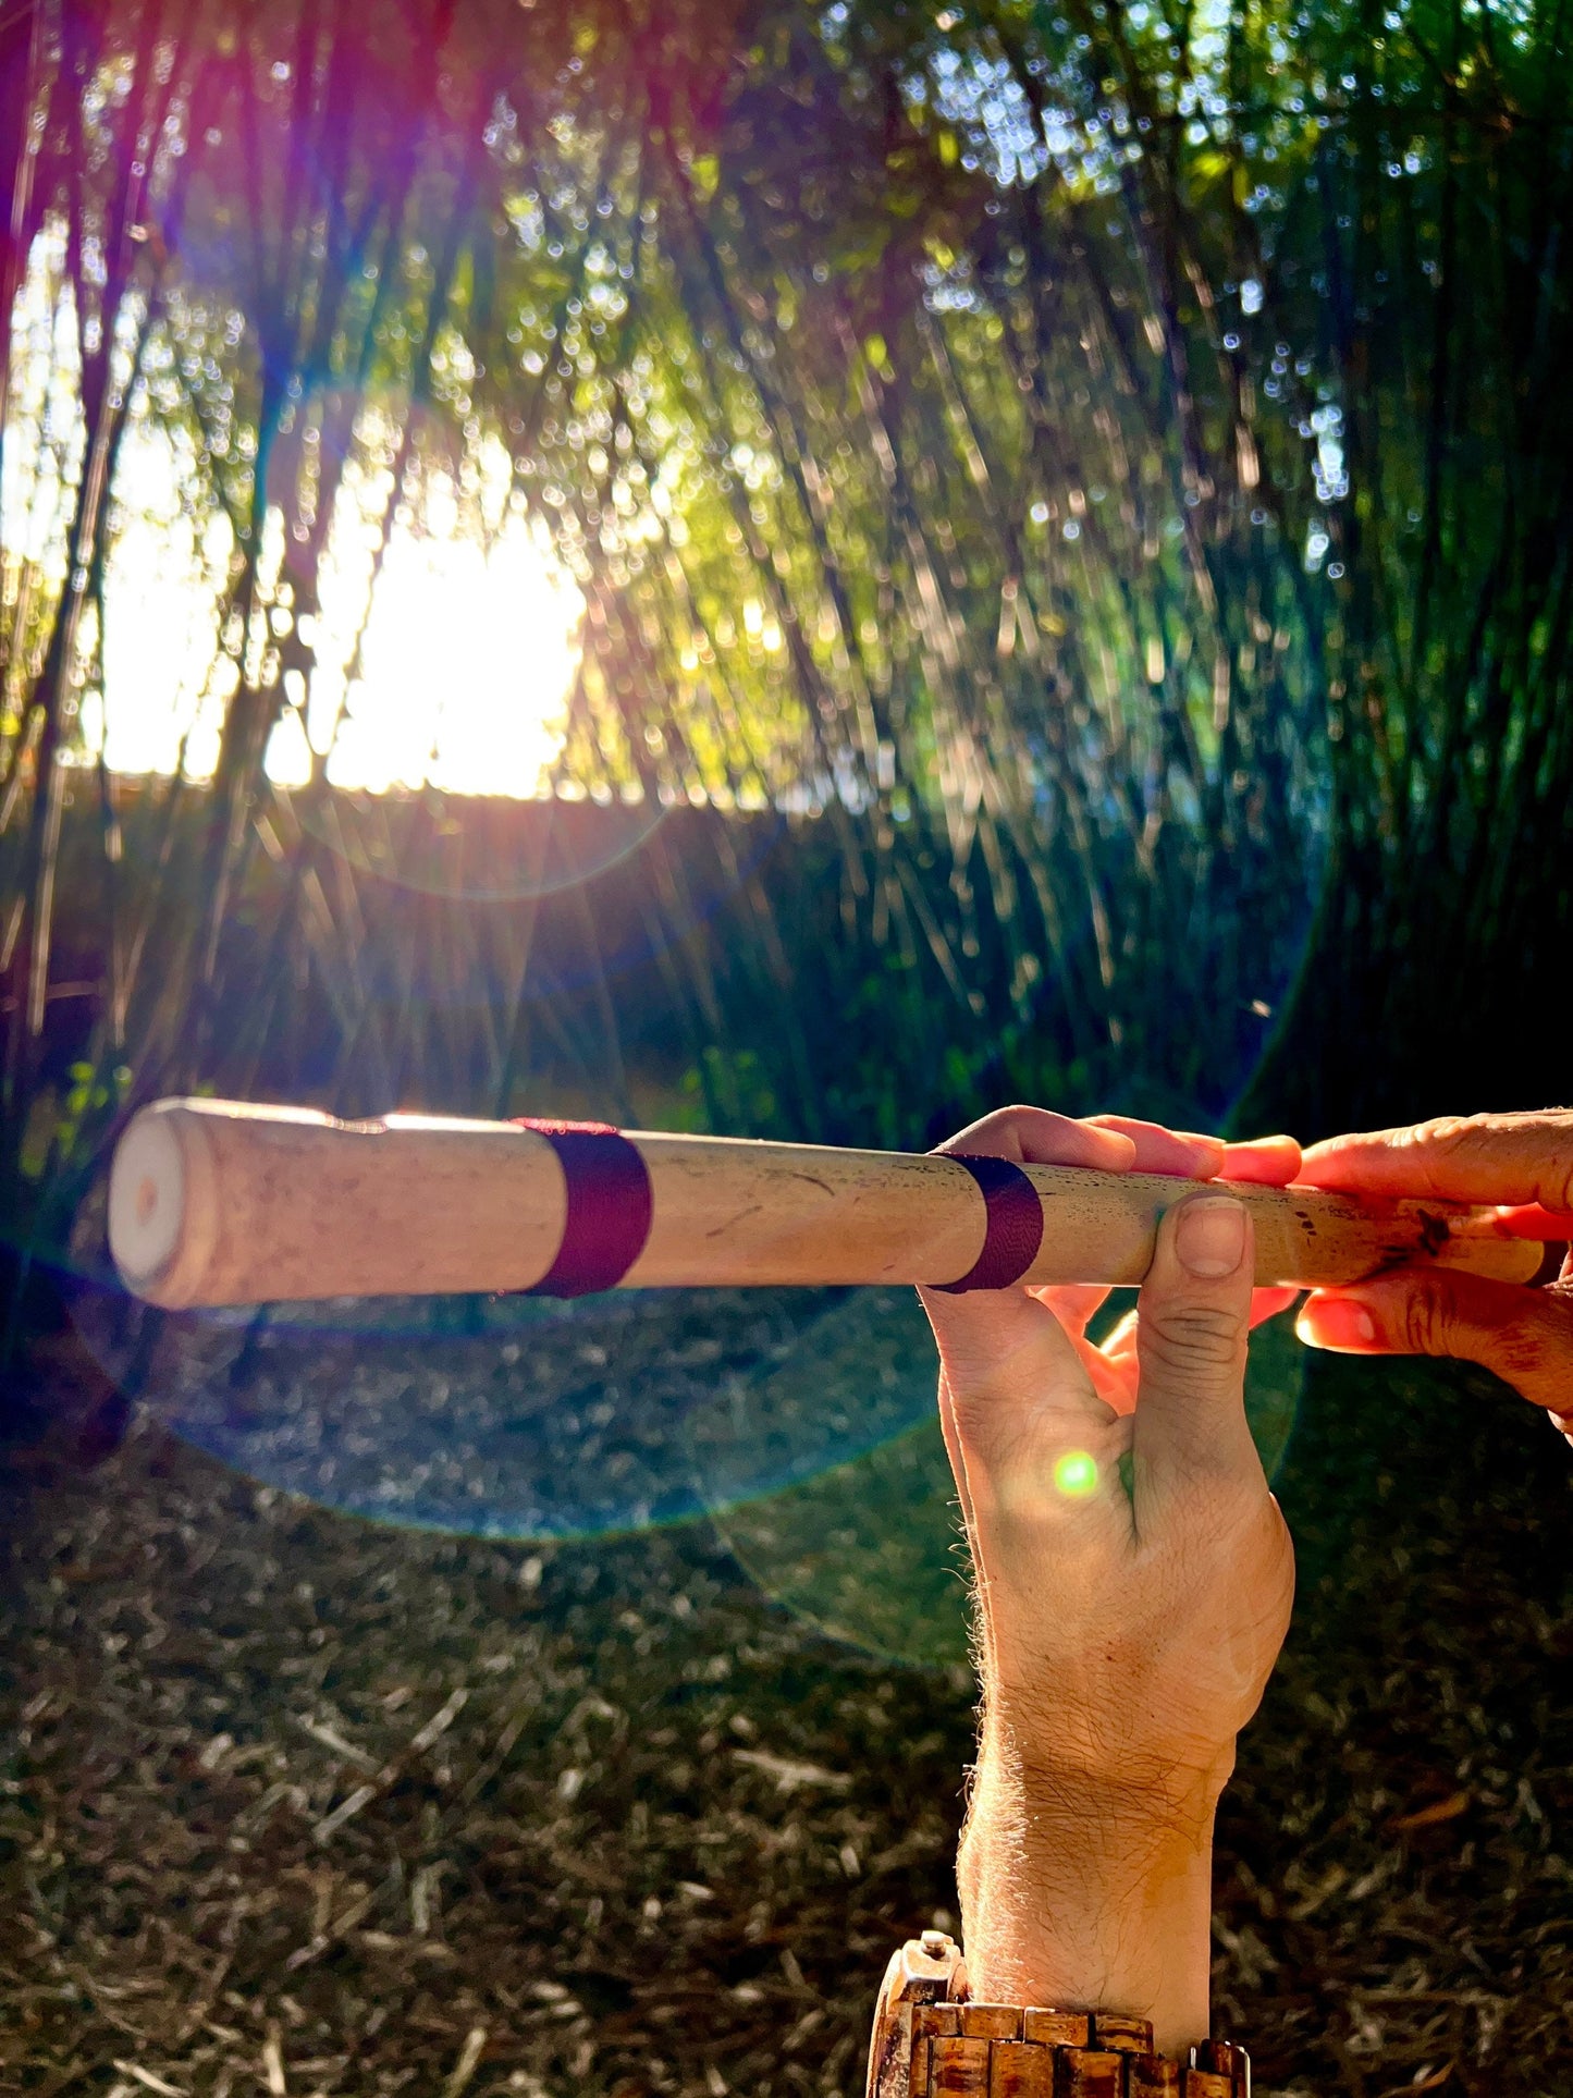
M 1195 1185 L 585 1122 L 340 1122 L 164 1099 L 115 1150 L 109 1246 L 126 1286 L 168 1309 L 493 1290 L 1128 1284 L 1151 1263 L 1160 1215 Z M 1357 1282 L 1401 1261 L 1531 1282 L 1546 1259 L 1491 1208 L 1229 1192 L 1254 1217 L 1263 1284 Z

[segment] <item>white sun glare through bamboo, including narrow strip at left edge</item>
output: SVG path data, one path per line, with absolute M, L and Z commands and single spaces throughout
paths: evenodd
M 50 290 L 52 260 L 40 243 L 17 302 L 25 348 L 0 485 L 13 604 L 25 569 L 59 590 L 59 518 L 84 451 L 76 323 L 69 287 Z M 457 466 L 428 462 L 394 491 L 396 426 L 371 407 L 350 420 L 317 606 L 281 504 L 258 564 L 262 604 L 241 636 L 220 631 L 235 535 L 222 510 L 193 497 L 195 438 L 134 409 L 111 497 L 103 686 L 84 682 L 80 762 L 103 753 L 111 772 L 212 776 L 245 655 L 254 676 L 283 686 L 266 751 L 281 787 L 306 785 L 317 766 L 329 785 L 371 793 L 543 791 L 579 671 L 583 600 L 526 512 L 505 447 L 482 441 Z M 90 611 L 88 642 L 94 625 Z

